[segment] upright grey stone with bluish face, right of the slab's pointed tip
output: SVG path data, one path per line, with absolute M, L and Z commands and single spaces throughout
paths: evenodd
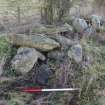
M 68 51 L 68 56 L 73 58 L 76 63 L 82 61 L 82 46 L 80 44 L 73 45 L 71 50 Z

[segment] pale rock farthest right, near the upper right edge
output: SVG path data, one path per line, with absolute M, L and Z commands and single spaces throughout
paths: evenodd
M 92 15 L 91 16 L 92 26 L 94 29 L 100 29 L 101 28 L 101 22 L 102 17 L 98 15 Z

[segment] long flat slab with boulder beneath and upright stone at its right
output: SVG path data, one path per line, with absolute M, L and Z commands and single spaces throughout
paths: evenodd
M 27 36 L 24 34 L 11 34 L 7 36 L 7 40 L 13 45 L 20 46 L 11 63 L 12 67 L 22 74 L 29 72 L 38 59 L 42 61 L 46 59 L 41 52 L 50 51 L 51 53 L 54 49 L 65 46 L 68 46 L 68 48 L 72 46 L 72 57 L 77 63 L 82 61 L 82 46 L 64 36 L 55 35 L 53 39 L 51 39 L 46 35 Z M 68 56 L 71 56 L 69 52 Z

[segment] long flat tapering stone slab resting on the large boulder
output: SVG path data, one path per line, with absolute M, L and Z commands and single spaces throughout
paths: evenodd
M 49 51 L 60 47 L 59 43 L 48 38 L 46 35 L 27 36 L 24 34 L 11 34 L 7 36 L 7 41 L 15 45 L 36 48 L 41 51 Z

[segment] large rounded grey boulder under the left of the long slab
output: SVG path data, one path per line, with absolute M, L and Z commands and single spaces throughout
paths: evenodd
M 45 56 L 34 48 L 21 47 L 12 59 L 11 64 L 16 71 L 25 74 L 33 68 L 38 59 L 44 61 Z

